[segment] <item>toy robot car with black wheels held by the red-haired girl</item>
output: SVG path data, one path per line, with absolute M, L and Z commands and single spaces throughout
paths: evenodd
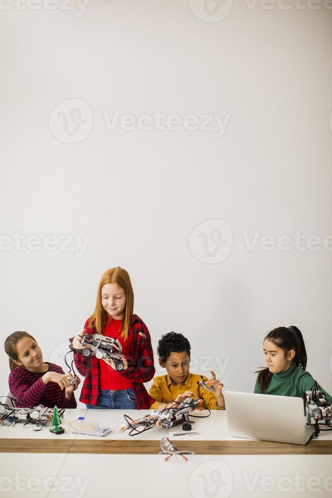
M 82 339 L 82 346 L 85 346 L 85 348 L 78 350 L 71 346 L 71 350 L 76 353 L 82 353 L 85 357 L 94 355 L 98 359 L 112 359 L 117 370 L 123 369 L 123 360 L 125 358 L 121 354 L 122 346 L 118 339 L 100 334 L 86 334 Z

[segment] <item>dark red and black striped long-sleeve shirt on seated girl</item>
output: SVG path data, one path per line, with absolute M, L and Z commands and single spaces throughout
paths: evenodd
M 48 362 L 45 362 L 48 363 Z M 64 374 L 62 368 L 54 363 L 48 363 L 48 371 Z M 37 404 L 43 404 L 44 407 L 54 408 L 76 408 L 77 403 L 73 394 L 72 399 L 65 397 L 64 389 L 55 382 L 49 382 L 47 386 L 42 381 L 46 372 L 30 372 L 21 366 L 17 366 L 10 372 L 9 389 L 16 398 L 18 408 L 35 407 Z

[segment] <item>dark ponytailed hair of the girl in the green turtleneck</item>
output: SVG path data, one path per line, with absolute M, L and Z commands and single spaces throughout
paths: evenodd
M 295 351 L 294 363 L 296 366 L 303 368 L 307 367 L 307 351 L 304 344 L 303 336 L 301 330 L 291 325 L 290 327 L 277 327 L 271 330 L 268 335 L 264 338 L 265 340 L 271 340 L 279 348 L 285 351 L 285 354 L 290 350 Z M 270 385 L 272 379 L 272 373 L 269 368 L 263 368 L 255 372 L 258 374 L 257 384 L 261 392 L 265 392 Z

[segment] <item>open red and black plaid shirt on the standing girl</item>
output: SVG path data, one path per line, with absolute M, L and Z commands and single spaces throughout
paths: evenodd
M 85 322 L 84 328 L 87 334 L 97 333 L 94 327 L 89 327 L 89 318 Z M 136 397 L 137 409 L 148 409 L 154 399 L 149 395 L 143 383 L 153 378 L 155 368 L 150 333 L 143 320 L 137 315 L 132 317 L 129 334 L 132 359 L 128 361 L 128 368 L 118 371 L 118 374 L 131 382 Z M 72 342 L 73 339 L 74 337 L 69 340 Z M 99 360 L 92 355 L 86 358 L 82 353 L 74 353 L 74 360 L 78 371 L 85 377 L 80 401 L 85 404 L 98 404 L 100 389 Z

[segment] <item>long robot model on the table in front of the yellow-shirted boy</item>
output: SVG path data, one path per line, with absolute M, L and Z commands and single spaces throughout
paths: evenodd
M 195 409 L 203 410 L 203 399 L 185 398 L 176 408 L 164 410 L 152 410 L 150 414 L 133 420 L 128 415 L 124 415 L 126 424 L 122 425 L 120 432 L 130 430 L 129 435 L 136 435 L 145 430 L 151 429 L 155 425 L 170 429 L 176 424 L 189 422 L 189 413 Z M 193 423 L 193 422 L 191 422 Z M 139 430 L 138 427 L 143 427 Z

